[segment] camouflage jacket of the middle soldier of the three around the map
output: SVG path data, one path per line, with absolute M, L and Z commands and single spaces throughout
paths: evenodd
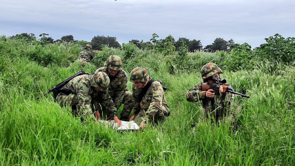
M 123 102 L 124 93 L 127 87 L 127 73 L 121 69 L 116 76 L 111 76 L 107 67 L 101 67 L 97 69 L 95 73 L 99 71 L 105 72 L 109 76 L 111 82 L 108 92 L 114 101 L 115 107 L 119 109 Z

